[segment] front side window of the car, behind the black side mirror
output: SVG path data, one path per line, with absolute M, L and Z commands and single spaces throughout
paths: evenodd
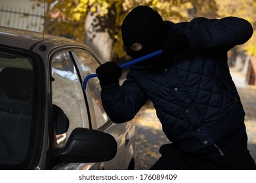
M 76 127 L 89 128 L 85 98 L 75 65 L 68 52 L 52 59 L 53 121 L 57 146 L 66 144 Z

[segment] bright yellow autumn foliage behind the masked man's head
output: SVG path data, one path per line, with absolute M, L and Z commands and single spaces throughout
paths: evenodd
M 31 0 L 44 3 L 44 0 Z M 245 18 L 252 25 L 256 21 L 255 0 L 46 0 L 47 8 L 47 31 L 55 35 L 70 37 L 77 41 L 83 41 L 85 18 L 88 11 L 97 16 L 106 16 L 110 7 L 116 8 L 116 27 L 114 35 L 114 56 L 123 58 L 125 52 L 121 41 L 121 22 L 126 14 L 138 5 L 148 5 L 160 12 L 164 20 L 172 22 L 188 21 L 195 16 L 207 18 L 221 18 L 224 16 L 239 16 Z M 56 15 L 57 17 L 54 17 Z M 247 54 L 255 55 L 256 39 L 246 45 Z

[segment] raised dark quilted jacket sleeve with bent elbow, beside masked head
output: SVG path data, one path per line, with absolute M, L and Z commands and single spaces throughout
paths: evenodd
M 184 31 L 190 48 L 230 48 L 244 44 L 252 34 L 251 24 L 242 18 L 222 19 L 194 18 Z

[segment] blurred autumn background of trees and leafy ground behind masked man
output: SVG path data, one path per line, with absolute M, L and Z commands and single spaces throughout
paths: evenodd
M 121 22 L 138 5 L 148 5 L 172 22 L 198 16 L 238 16 L 256 26 L 256 0 L 0 0 L 0 25 L 49 33 L 83 42 L 102 61 L 121 64 L 130 58 L 121 41 Z M 228 52 L 230 73 L 244 104 L 248 146 L 256 158 L 256 37 Z M 124 75 L 125 76 L 125 75 Z M 158 149 L 168 143 L 151 103 L 137 120 L 136 169 L 148 169 L 160 157 Z

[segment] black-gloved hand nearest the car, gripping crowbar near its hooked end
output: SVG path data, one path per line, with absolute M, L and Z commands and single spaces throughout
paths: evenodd
M 111 85 L 118 82 L 122 75 L 122 69 L 114 61 L 108 61 L 96 69 L 98 80 L 102 85 Z

